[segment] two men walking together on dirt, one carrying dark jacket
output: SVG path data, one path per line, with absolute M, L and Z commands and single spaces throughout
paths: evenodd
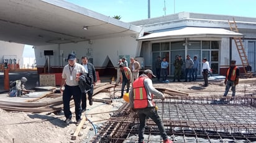
M 86 110 L 86 94 L 88 94 L 89 105 L 93 105 L 93 86 L 97 82 L 96 71 L 88 58 L 83 56 L 82 63 L 76 63 L 76 55 L 68 54 L 68 64 L 63 68 L 62 84 L 63 111 L 66 117 L 65 123 L 71 121 L 70 100 L 73 96 L 75 102 L 76 124 L 81 122 L 81 113 Z

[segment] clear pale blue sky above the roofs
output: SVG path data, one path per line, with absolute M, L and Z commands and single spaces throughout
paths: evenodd
M 121 15 L 124 22 L 147 19 L 148 0 L 65 0 L 107 16 Z M 174 6 L 175 3 L 175 6 Z M 165 15 L 164 0 L 150 0 L 151 17 Z M 256 17 L 255 0 L 165 0 L 166 14 L 197 12 L 204 14 Z

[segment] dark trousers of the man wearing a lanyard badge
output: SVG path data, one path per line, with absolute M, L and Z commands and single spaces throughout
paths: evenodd
M 70 100 L 72 95 L 75 102 L 76 121 L 78 121 L 79 119 L 81 119 L 81 90 L 78 85 L 65 85 L 65 90 L 62 96 L 64 115 L 66 118 L 72 118 L 72 113 L 70 111 Z

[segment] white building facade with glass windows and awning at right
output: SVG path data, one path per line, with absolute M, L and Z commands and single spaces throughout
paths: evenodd
M 235 19 L 239 33 L 235 35 L 229 28 L 228 20 Z M 183 59 L 187 54 L 197 56 L 201 69 L 203 58 L 207 58 L 213 74 L 225 75 L 229 61 L 235 59 L 242 63 L 232 37 L 242 37 L 249 64 L 255 72 L 256 19 L 228 15 L 196 14 L 181 12 L 153 19 L 139 20 L 132 24 L 143 27 L 149 35 L 139 38 L 142 41 L 140 56 L 145 58 L 145 67 L 154 68 L 157 56 L 167 58 L 170 63 L 168 74 L 174 72 L 173 62 L 176 55 Z M 234 35 L 233 35 L 234 34 Z M 242 70 L 244 72 L 244 70 Z M 198 74 L 201 72 L 199 70 Z

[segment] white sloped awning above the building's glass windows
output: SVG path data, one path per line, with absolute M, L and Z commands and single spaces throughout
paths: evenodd
M 156 32 L 140 37 L 139 41 L 164 40 L 170 38 L 193 38 L 193 37 L 243 37 L 241 33 L 232 32 L 224 28 L 203 28 L 203 27 L 184 27 L 178 30 L 167 32 Z

